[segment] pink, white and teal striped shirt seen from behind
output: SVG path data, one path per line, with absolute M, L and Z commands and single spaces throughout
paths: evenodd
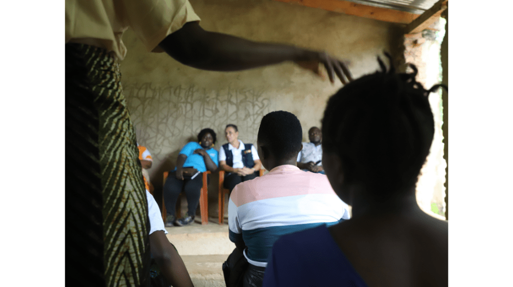
M 328 178 L 283 165 L 236 185 L 228 202 L 229 237 L 244 242 L 248 262 L 267 266 L 272 244 L 282 235 L 349 219 L 348 206 Z

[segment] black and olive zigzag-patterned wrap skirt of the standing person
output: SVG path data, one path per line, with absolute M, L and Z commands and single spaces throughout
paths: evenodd
M 148 203 L 120 80 L 111 53 L 66 44 L 66 277 L 73 285 L 150 283 Z

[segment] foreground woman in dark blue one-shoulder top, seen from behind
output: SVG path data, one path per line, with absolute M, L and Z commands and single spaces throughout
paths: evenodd
M 281 237 L 264 286 L 447 286 L 448 222 L 415 197 L 440 85 L 427 91 L 415 67 L 396 74 L 378 60 L 383 71 L 333 95 L 322 121 L 323 167 L 351 219 Z

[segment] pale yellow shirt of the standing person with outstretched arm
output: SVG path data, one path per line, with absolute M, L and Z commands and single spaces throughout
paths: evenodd
M 148 51 L 187 22 L 199 21 L 188 0 L 66 0 L 66 43 L 113 51 L 123 59 L 123 32 L 131 27 Z

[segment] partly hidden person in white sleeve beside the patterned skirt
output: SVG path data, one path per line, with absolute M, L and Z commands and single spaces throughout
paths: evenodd
M 146 189 L 148 217 L 150 219 L 150 287 L 193 287 L 182 257 L 167 239 L 162 215 L 155 198 Z M 165 280 L 164 280 L 165 279 Z M 167 282 L 166 282 L 167 281 Z

